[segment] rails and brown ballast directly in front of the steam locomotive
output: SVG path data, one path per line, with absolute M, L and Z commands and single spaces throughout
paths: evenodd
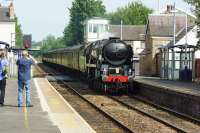
M 92 91 L 82 83 L 62 82 L 67 90 L 71 90 L 81 99 L 89 103 L 99 112 L 112 119 L 126 132 L 198 132 L 199 126 L 190 122 L 185 122 L 180 118 L 172 116 L 157 108 L 150 107 L 139 100 L 128 96 L 105 96 Z M 70 99 L 68 99 L 70 100 Z M 139 103 L 140 102 L 140 103 Z M 135 106 L 140 105 L 140 106 Z M 156 113 L 157 112 L 157 113 Z M 160 114 L 159 114 L 159 113 Z M 80 113 L 81 114 L 81 113 Z M 164 117 L 164 119 L 162 118 Z M 166 120 L 166 117 L 169 117 Z M 179 119 L 179 120 L 178 120 Z M 175 121 L 174 121 L 175 120 Z M 179 122 L 180 124 L 175 124 Z M 180 126 L 182 125 L 182 126 Z M 113 128 L 112 128 L 113 129 Z

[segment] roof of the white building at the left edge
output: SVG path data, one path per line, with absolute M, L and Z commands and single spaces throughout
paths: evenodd
M 14 19 L 10 19 L 9 8 L 0 7 L 0 22 L 14 22 Z

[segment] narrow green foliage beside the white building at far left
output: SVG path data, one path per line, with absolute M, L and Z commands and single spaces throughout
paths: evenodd
M 21 29 L 21 25 L 18 22 L 17 17 L 15 18 L 15 45 L 17 48 L 22 48 L 23 47 L 23 33 Z

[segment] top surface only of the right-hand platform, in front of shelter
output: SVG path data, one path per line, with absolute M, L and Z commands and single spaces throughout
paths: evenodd
M 154 77 L 136 77 L 135 81 L 200 97 L 200 84 L 196 82 L 162 80 Z

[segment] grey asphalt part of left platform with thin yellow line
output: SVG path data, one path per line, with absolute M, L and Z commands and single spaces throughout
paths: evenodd
M 0 107 L 0 133 L 60 133 L 42 110 L 33 81 L 31 100 L 34 107 L 17 107 L 17 80 L 7 80 L 5 106 Z

